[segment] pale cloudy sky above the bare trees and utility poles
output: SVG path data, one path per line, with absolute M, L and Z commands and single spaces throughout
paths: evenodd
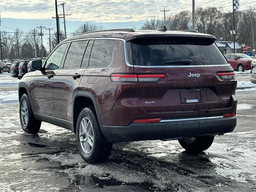
M 192 11 L 192 0 L 64 0 L 67 32 L 72 33 L 83 22 L 93 22 L 108 28 L 139 28 L 146 19 L 163 17 L 162 9 L 167 14 L 176 14 L 182 10 Z M 58 0 L 58 4 L 61 4 Z M 195 0 L 196 7 L 222 6 L 232 10 L 232 0 Z M 100 5 L 99 5 L 100 4 Z M 1 30 L 13 32 L 20 28 L 29 32 L 42 25 L 56 30 L 54 0 L 0 0 Z M 240 10 L 256 5 L 256 0 L 240 0 Z M 62 6 L 58 6 L 62 14 Z M 63 21 L 60 20 L 63 30 Z M 44 39 L 46 40 L 46 36 Z

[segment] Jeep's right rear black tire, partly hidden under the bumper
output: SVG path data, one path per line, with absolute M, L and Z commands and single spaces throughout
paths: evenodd
M 186 139 L 181 139 L 179 143 L 189 154 L 198 154 L 208 149 L 213 140 L 214 136 L 203 136 L 194 138 L 192 142 L 186 142 Z

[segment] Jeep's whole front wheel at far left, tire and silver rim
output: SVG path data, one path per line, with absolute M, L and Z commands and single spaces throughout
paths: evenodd
M 36 120 L 27 94 L 23 94 L 20 98 L 20 124 L 22 129 L 30 134 L 38 133 L 41 121 Z

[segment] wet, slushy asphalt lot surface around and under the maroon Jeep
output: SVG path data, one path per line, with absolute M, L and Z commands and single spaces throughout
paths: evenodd
M 236 96 L 234 132 L 202 154 L 177 141 L 133 142 L 96 165 L 82 160 L 69 130 L 42 123 L 38 135 L 26 134 L 18 104 L 0 104 L 0 192 L 256 192 L 256 91 Z

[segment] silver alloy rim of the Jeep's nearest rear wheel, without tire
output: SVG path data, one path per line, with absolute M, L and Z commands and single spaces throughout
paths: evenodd
M 93 129 L 92 123 L 87 117 L 84 117 L 80 123 L 79 138 L 82 150 L 89 154 L 93 147 Z

